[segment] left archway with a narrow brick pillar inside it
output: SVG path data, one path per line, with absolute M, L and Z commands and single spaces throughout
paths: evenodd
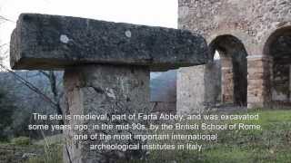
M 223 34 L 216 36 L 209 43 L 209 49 L 212 58 L 216 52 L 220 55 L 221 103 L 224 105 L 245 106 L 247 94 L 247 52 L 244 43 L 232 34 Z M 212 67 L 209 65 L 213 64 L 213 62 L 208 63 L 208 69 Z M 211 87 L 206 87 L 206 89 L 211 89 Z M 212 91 L 206 90 L 206 92 Z

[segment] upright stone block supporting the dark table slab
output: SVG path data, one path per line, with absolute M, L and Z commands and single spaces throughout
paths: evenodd
M 149 69 L 146 67 L 113 66 L 113 65 L 88 65 L 66 69 L 64 76 L 65 98 L 67 106 L 65 113 L 75 114 L 134 114 L 149 113 Z M 66 120 L 66 124 L 86 124 L 88 130 L 65 132 L 65 161 L 69 163 L 89 162 L 115 162 L 129 158 L 142 158 L 145 151 L 118 151 L 118 150 L 90 150 L 89 146 L 97 144 L 142 144 L 135 140 L 75 140 L 74 135 L 82 134 L 142 134 L 140 130 L 111 130 L 90 129 L 92 125 L 106 124 L 132 124 L 137 120 Z M 143 124 L 143 121 L 139 123 Z M 145 131 L 146 132 L 146 131 Z M 135 141 L 135 142 L 134 142 Z M 144 142 L 145 143 L 145 142 Z M 67 152 L 70 154 L 68 158 Z M 98 156 L 98 157 L 96 157 Z

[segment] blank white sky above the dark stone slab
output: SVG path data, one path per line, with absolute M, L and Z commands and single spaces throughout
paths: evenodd
M 177 8 L 177 0 L 0 0 L 0 15 L 11 20 L 0 24 L 0 45 L 9 43 L 21 13 L 60 14 L 177 28 Z

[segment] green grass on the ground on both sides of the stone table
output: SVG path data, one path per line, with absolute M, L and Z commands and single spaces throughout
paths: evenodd
M 290 163 L 291 162 L 291 110 L 249 110 L 241 114 L 259 114 L 259 120 L 229 120 L 227 123 L 258 124 L 261 130 L 188 130 L 187 134 L 196 132 L 218 133 L 215 142 L 199 143 L 204 145 L 202 151 L 197 150 L 151 150 L 146 162 L 194 162 L 194 163 Z M 193 121 L 192 121 L 193 122 Z M 214 121 L 212 121 L 214 122 Z M 226 121 L 225 121 L 226 122 Z M 224 122 L 224 123 L 225 123 Z M 221 121 L 216 121 L 221 123 Z M 163 133 L 165 131 L 159 131 Z M 175 131 L 180 132 L 181 131 Z M 62 137 L 53 136 L 44 140 L 27 144 L 27 139 L 12 140 L 11 143 L 0 144 L 0 149 L 16 149 L 25 153 L 36 153 L 35 157 L 25 159 L 25 163 L 62 163 L 63 146 Z M 195 141 L 188 141 L 196 143 Z M 157 143 L 164 143 L 158 141 Z M 185 143 L 173 141 L 166 143 Z M 7 162 L 15 160 L 12 154 L 0 150 Z M 22 156 L 22 155 L 20 155 Z M 9 158 L 10 157 L 10 158 Z M 15 161 L 16 162 L 16 161 Z M 136 161 L 135 161 L 136 162 Z M 141 161 L 137 161 L 141 162 Z

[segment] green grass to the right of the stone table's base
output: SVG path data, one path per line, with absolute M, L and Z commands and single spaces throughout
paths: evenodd
M 246 112 L 244 112 L 245 114 Z M 259 120 L 229 120 L 227 123 L 258 124 L 262 130 L 219 130 L 216 142 L 206 143 L 203 151 L 175 150 L 151 152 L 150 160 L 161 162 L 291 162 L 291 110 L 250 110 Z M 226 122 L 226 121 L 225 121 Z M 219 123 L 219 122 L 218 122 Z M 197 131 L 192 131 L 196 133 Z M 200 133 L 208 132 L 200 130 Z M 195 143 L 195 142 L 192 142 Z

